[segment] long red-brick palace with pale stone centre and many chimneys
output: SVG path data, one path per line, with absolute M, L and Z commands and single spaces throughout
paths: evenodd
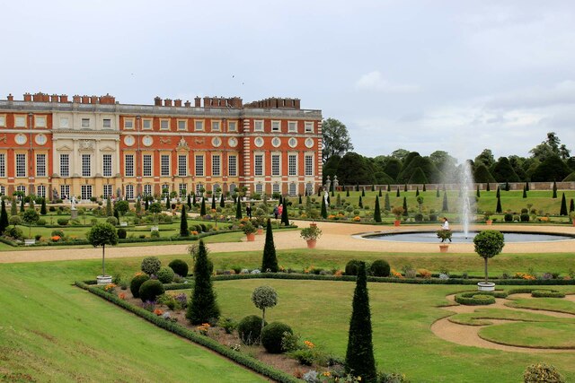
M 322 112 L 300 100 L 152 105 L 45 93 L 0 100 L 0 193 L 133 200 L 200 190 L 303 195 L 322 185 Z

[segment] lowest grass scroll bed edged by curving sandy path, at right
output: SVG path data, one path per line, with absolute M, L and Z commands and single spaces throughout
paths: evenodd
M 575 348 L 574 333 L 575 323 L 558 322 L 512 322 L 479 330 L 491 342 L 535 348 Z

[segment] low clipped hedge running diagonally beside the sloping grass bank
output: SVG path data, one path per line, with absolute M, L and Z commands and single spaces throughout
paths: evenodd
M 95 295 L 103 298 L 104 300 L 109 300 L 112 303 L 115 303 L 122 309 L 127 309 L 132 313 L 136 314 L 138 317 L 146 319 L 148 322 L 152 322 L 155 326 L 162 327 L 164 330 L 168 330 L 173 334 L 180 335 L 193 343 L 200 344 L 208 349 L 219 353 L 220 355 L 225 356 L 226 358 L 235 361 L 242 366 L 253 370 L 265 377 L 270 379 L 279 381 L 279 382 L 288 382 L 288 383 L 296 383 L 299 382 L 299 379 L 288 375 L 284 371 L 276 370 L 261 361 L 257 361 L 250 356 L 247 356 L 243 353 L 239 353 L 234 351 L 225 345 L 217 343 L 215 340 L 208 338 L 208 336 L 199 335 L 190 329 L 179 325 L 178 323 L 173 323 L 170 321 L 165 320 L 162 317 L 158 317 L 154 313 L 147 311 L 146 309 L 142 309 L 140 307 L 134 306 L 128 303 L 126 300 L 120 300 L 116 295 L 113 295 L 109 292 L 104 292 L 99 287 L 90 286 L 83 282 L 75 282 L 75 285 L 87 290 L 88 292 L 92 292 Z

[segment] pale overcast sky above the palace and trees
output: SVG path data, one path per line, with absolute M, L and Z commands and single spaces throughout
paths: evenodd
M 575 2 L 5 1 L 0 98 L 297 97 L 355 152 L 575 150 Z

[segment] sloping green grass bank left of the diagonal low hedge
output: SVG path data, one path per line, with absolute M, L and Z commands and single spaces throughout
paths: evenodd
M 94 266 L 0 265 L 0 380 L 265 381 L 70 284 Z

